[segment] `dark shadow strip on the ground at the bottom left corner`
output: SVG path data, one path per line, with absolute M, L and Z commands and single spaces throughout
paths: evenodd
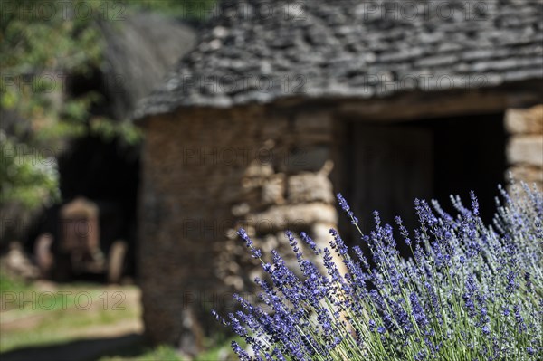
M 2 361 L 90 361 L 101 356 L 130 356 L 141 351 L 145 339 L 130 333 L 119 337 L 84 338 L 63 344 L 24 347 L 0 354 Z

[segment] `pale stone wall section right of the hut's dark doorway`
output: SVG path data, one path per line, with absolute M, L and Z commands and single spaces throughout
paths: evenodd
M 510 135 L 508 175 L 543 189 L 543 104 L 529 109 L 508 109 L 505 127 Z

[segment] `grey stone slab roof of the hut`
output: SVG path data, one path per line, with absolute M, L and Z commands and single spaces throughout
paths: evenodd
M 135 118 L 543 78 L 541 0 L 235 0 Z

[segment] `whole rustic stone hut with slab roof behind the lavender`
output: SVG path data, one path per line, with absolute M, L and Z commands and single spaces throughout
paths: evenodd
M 530 0 L 218 5 L 136 114 L 148 336 L 191 349 L 252 279 L 237 226 L 264 250 L 285 228 L 322 243 L 335 192 L 370 227 L 471 189 L 490 212 L 508 173 L 543 185 L 542 16 Z

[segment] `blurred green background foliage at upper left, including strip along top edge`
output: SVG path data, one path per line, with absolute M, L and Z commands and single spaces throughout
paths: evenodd
M 71 79 L 104 66 L 99 22 L 153 11 L 200 22 L 215 0 L 12 0 L 0 23 L 0 207 L 33 210 L 60 200 L 57 158 L 74 138 L 98 135 L 138 145 L 129 119 L 92 114 L 107 101 L 67 91 Z M 79 14 L 75 14 L 79 11 Z M 122 22 L 118 22 L 121 24 Z

